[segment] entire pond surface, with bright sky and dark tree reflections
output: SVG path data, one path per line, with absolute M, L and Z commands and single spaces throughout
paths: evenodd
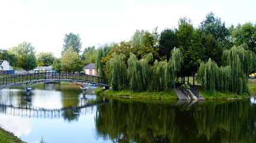
M 87 95 L 78 86 L 0 91 L 0 124 L 26 142 L 256 142 L 255 98 L 177 103 Z

